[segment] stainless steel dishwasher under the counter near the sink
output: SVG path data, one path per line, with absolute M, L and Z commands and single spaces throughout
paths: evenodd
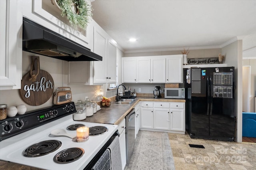
M 132 156 L 135 145 L 135 109 L 132 109 L 125 117 L 126 121 L 126 164 Z

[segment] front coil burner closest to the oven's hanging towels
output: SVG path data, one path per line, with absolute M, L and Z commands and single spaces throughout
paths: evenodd
M 59 164 L 66 164 L 78 160 L 83 154 L 84 149 L 82 148 L 67 148 L 56 154 L 53 160 Z

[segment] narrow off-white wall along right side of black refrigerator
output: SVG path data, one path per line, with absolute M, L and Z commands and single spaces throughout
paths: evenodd
M 242 40 L 238 40 L 221 49 L 228 67 L 235 67 L 235 99 L 237 117 L 237 142 L 242 142 Z

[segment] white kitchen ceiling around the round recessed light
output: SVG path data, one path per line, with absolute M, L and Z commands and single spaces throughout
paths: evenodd
M 92 8 L 124 52 L 220 47 L 256 34 L 256 0 L 95 0 Z

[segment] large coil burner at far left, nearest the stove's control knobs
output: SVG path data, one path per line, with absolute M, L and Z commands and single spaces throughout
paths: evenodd
M 38 157 L 54 152 L 62 143 L 59 140 L 45 140 L 36 144 L 30 145 L 22 154 L 26 157 Z

